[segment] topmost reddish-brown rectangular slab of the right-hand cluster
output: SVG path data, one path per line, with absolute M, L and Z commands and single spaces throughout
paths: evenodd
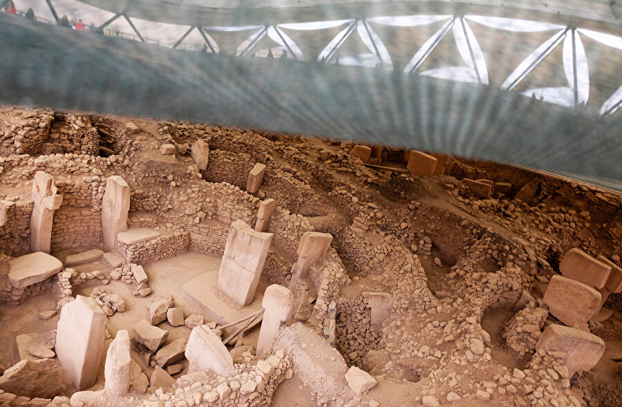
M 559 263 L 562 276 L 589 285 L 603 288 L 611 273 L 611 266 L 601 263 L 581 249 L 570 249 Z

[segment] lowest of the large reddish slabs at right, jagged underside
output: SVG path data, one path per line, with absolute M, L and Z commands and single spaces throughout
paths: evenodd
M 605 353 L 605 342 L 594 334 L 552 324 L 540 335 L 536 350 L 565 352 L 564 365 L 568 368 L 568 377 L 575 372 L 590 370 Z

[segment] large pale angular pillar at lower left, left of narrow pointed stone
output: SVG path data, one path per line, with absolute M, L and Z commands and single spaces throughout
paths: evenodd
M 86 390 L 97 383 L 106 320 L 106 314 L 91 297 L 79 295 L 61 310 L 56 354 L 77 390 Z

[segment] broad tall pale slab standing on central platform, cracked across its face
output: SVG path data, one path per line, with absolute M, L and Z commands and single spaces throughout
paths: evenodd
M 271 233 L 255 231 L 243 220 L 232 223 L 218 269 L 218 289 L 240 305 L 251 303 L 270 243 Z

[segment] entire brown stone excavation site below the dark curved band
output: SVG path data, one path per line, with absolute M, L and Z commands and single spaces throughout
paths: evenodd
M 0 135 L 2 405 L 620 405 L 619 194 L 205 123 Z

